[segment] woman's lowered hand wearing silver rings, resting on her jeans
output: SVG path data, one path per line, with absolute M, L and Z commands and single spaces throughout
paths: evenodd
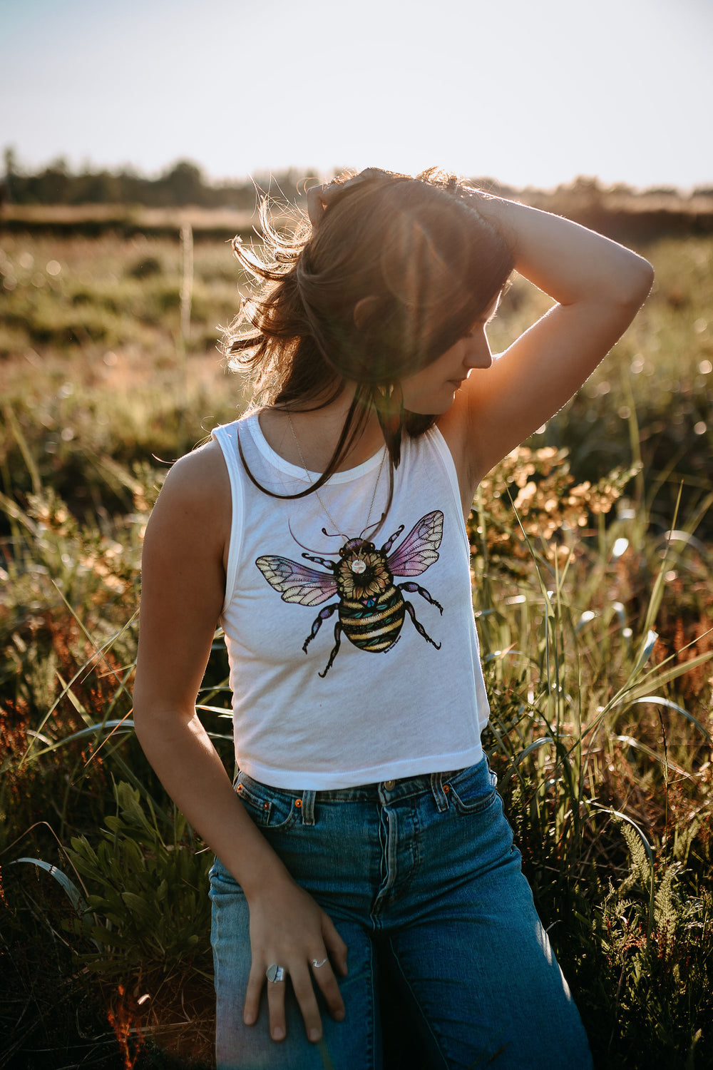
M 311 1041 L 322 1037 L 322 1022 L 314 982 L 320 987 L 329 1013 L 337 1022 L 344 1018 L 344 1003 L 335 969 L 346 976 L 346 945 L 331 919 L 299 885 L 285 880 L 270 883 L 269 890 L 248 896 L 252 965 L 245 997 L 244 1021 L 258 1020 L 263 984 L 267 984 L 269 1031 L 273 1040 L 286 1033 L 284 987 L 286 980 L 269 981 L 267 967 L 276 964 L 290 978 L 305 1029 Z

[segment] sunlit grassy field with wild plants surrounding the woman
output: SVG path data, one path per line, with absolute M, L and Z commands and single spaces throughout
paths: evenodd
M 210 1067 L 210 853 L 133 732 L 141 539 L 245 404 L 223 241 L 0 232 L 0 1067 Z M 713 1067 L 713 238 L 469 522 L 500 777 L 599 1068 Z M 547 307 L 515 279 L 494 348 Z M 220 637 L 199 698 L 232 771 Z M 533 1007 L 533 1017 L 537 1007 Z M 325 1054 L 325 1067 L 329 1066 Z M 392 1068 L 418 1066 L 406 1037 Z

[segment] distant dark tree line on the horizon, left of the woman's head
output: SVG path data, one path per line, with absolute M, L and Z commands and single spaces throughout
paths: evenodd
M 31 174 L 20 168 L 13 149 L 4 150 L 4 197 L 15 204 L 142 204 L 146 208 L 197 204 L 202 208 L 251 210 L 255 207 L 255 185 L 250 180 L 211 183 L 200 167 L 180 159 L 158 178 L 146 178 L 129 168 L 120 171 L 82 170 L 73 172 L 60 157 Z M 312 172 L 317 173 L 317 172 Z M 290 200 L 304 196 L 297 184 L 305 174 L 289 169 L 257 178 L 258 185 Z

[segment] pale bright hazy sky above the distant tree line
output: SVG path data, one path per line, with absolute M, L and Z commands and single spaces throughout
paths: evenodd
M 0 0 L 0 148 L 713 185 L 712 0 Z

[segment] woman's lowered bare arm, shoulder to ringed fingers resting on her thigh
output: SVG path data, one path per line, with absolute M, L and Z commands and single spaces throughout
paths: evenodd
M 346 948 L 327 915 L 292 880 L 237 798 L 196 713 L 224 596 L 231 498 L 212 443 L 171 470 L 143 547 L 134 718 L 139 742 L 171 798 L 238 882 L 250 907 L 252 965 L 245 1021 L 258 1018 L 267 966 L 290 975 L 310 1039 L 322 1027 L 309 962 L 329 956 L 340 973 Z M 329 967 L 319 983 L 335 1018 L 344 1006 Z M 270 984 L 269 1024 L 282 1039 L 284 984 Z

